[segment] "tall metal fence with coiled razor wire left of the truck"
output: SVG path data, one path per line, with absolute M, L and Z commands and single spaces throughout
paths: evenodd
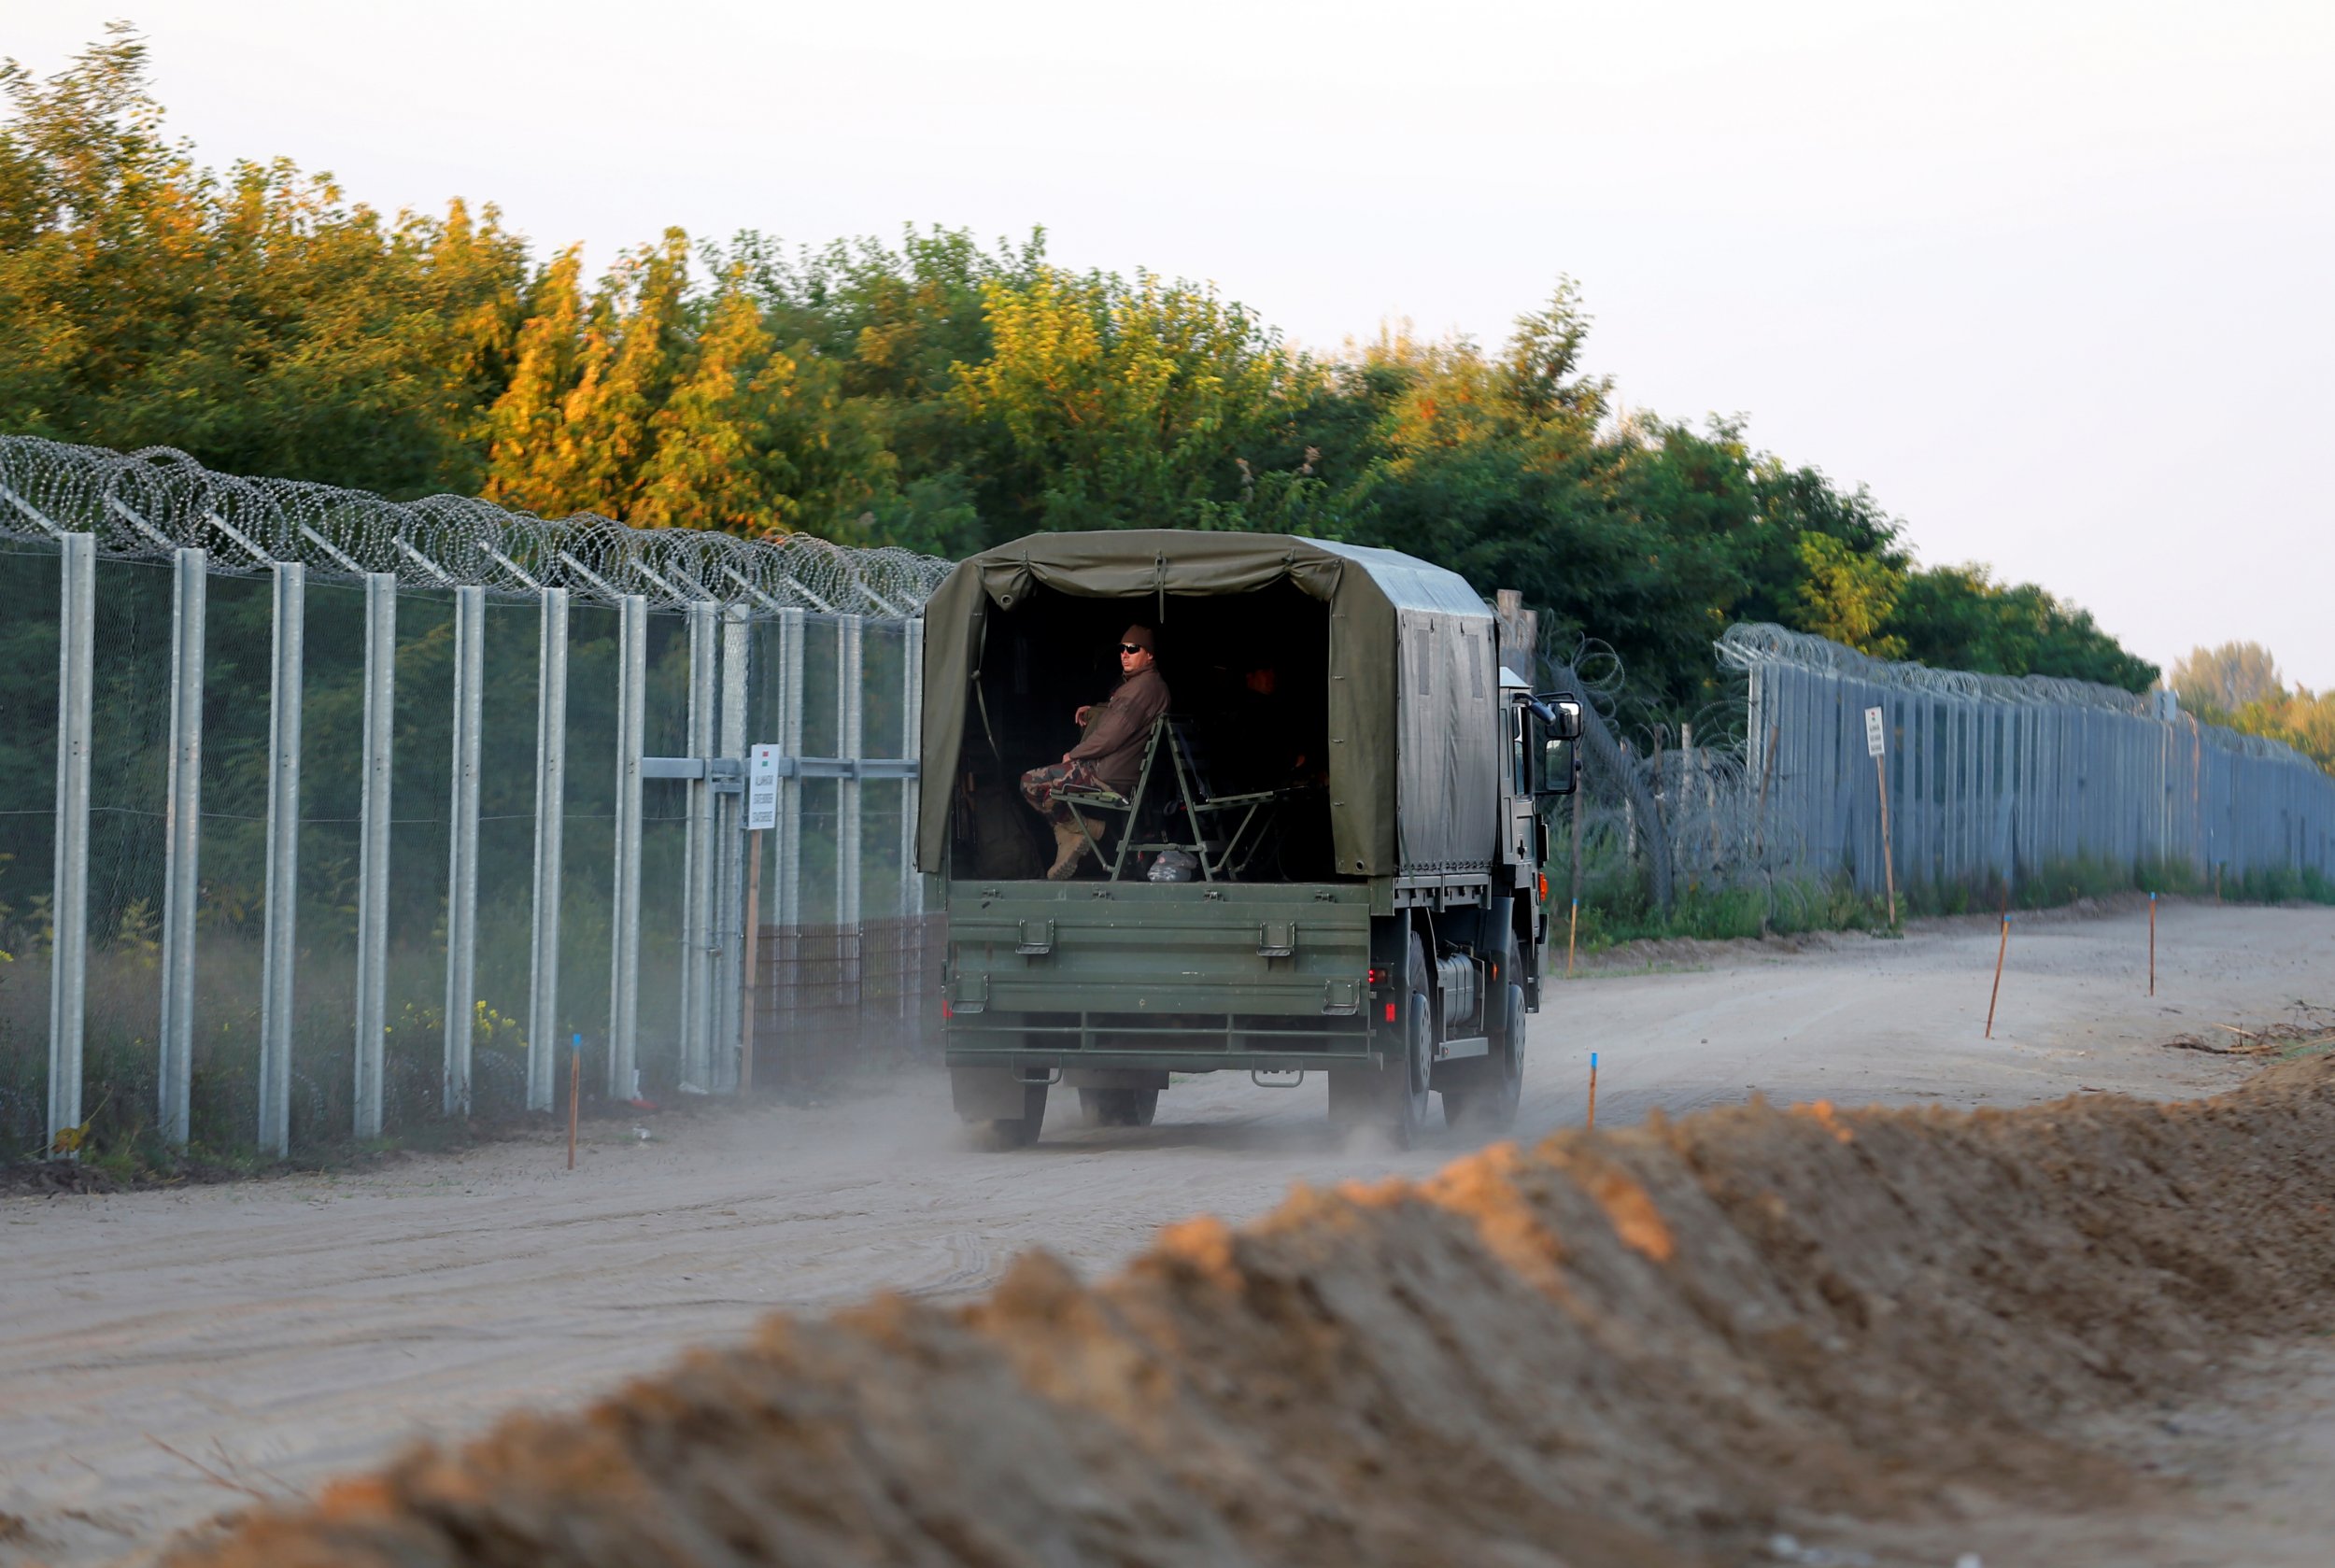
M 794 1010 L 920 1017 L 946 572 L 0 436 L 9 1155 L 542 1111 L 570 1043 L 616 1099 L 719 1092 L 745 1010 L 780 1073 Z

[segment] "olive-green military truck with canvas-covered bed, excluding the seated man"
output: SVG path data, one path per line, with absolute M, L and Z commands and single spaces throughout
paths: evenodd
M 1020 775 L 1079 737 L 1128 623 L 1172 705 L 1046 880 Z M 1048 1087 L 1146 1125 L 1177 1073 L 1329 1078 L 1340 1127 L 1504 1132 L 1541 1003 L 1546 824 L 1581 707 L 1534 693 L 1464 579 L 1396 551 L 1177 530 L 1032 534 L 925 607 L 918 868 L 946 882 L 957 1115 L 1037 1139 Z M 1511 632 L 1513 637 L 1513 632 Z

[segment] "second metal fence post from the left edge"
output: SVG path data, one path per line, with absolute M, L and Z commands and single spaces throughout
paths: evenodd
M 161 894 L 161 1136 L 184 1148 L 194 1092 L 194 891 L 203 821 L 203 609 L 210 560 L 177 551 L 170 576 L 170 805 Z

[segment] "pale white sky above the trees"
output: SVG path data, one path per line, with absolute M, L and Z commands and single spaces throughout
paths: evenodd
M 40 75 L 135 0 L 0 0 Z M 2335 686 L 2335 2 L 145 0 L 205 161 L 495 201 L 593 264 L 679 224 L 1051 231 L 1294 338 L 1499 341 L 1747 413 L 2169 663 Z

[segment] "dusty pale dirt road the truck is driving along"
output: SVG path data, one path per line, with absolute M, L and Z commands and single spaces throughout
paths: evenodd
M 2013 926 L 1982 1041 L 1994 922 L 1677 954 L 1597 973 L 1534 1020 L 1520 1134 L 1751 1094 L 2027 1104 L 2186 1097 L 2246 1066 L 2174 1036 L 2335 1003 L 2335 910 L 2169 905 L 2158 999 L 2146 915 Z M 1343 1148 L 1322 1090 L 1198 1080 L 1149 1129 L 964 1146 L 939 1073 L 822 1108 L 747 1108 L 642 1141 L 600 1127 L 574 1174 L 507 1143 L 364 1176 L 0 1202 L 0 1561 L 138 1556 L 175 1528 L 453 1437 L 511 1405 L 574 1405 L 738 1337 L 768 1309 L 985 1288 L 1044 1244 L 1081 1272 L 1163 1223 L 1242 1220 L 1291 1183 L 1424 1176 L 1459 1153 Z

